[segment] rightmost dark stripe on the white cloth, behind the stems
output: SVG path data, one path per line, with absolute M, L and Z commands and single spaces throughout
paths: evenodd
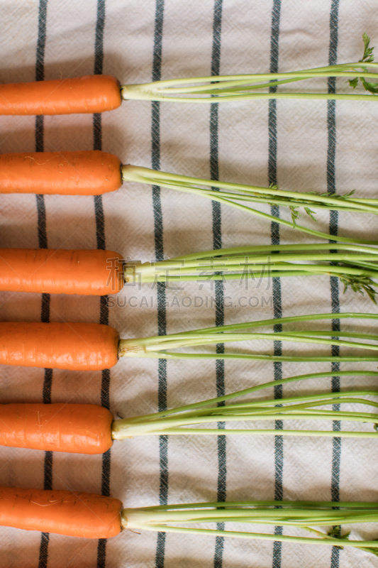
M 330 6 L 330 44 L 328 52 L 328 65 L 335 65 L 338 55 L 338 0 L 332 0 Z M 335 77 L 328 79 L 328 92 L 336 92 Z M 336 102 L 327 102 L 327 129 L 328 129 L 328 148 L 327 148 L 327 190 L 330 193 L 336 192 L 336 178 L 335 178 L 335 158 L 336 158 Z M 331 235 L 338 234 L 338 212 L 330 212 L 329 231 Z M 330 241 L 334 243 L 335 241 Z M 330 301 L 332 313 L 340 313 L 340 300 L 339 300 L 339 282 L 338 278 L 330 277 Z M 332 320 L 332 331 L 340 331 L 340 320 Z M 339 356 L 340 349 L 338 346 L 333 345 L 333 356 Z M 337 373 L 340 371 L 340 364 L 335 362 L 331 364 L 331 371 Z M 340 392 L 340 378 L 338 376 L 332 377 L 331 388 L 333 393 Z M 333 410 L 340 410 L 340 405 L 334 404 Z M 333 421 L 333 431 L 340 432 L 341 424 L 339 420 Z M 333 438 L 332 448 L 332 466 L 331 466 L 331 481 L 330 481 L 330 495 L 332 501 L 340 501 L 340 459 L 341 459 L 341 438 Z M 339 528 L 340 530 L 340 528 Z M 332 547 L 330 557 L 330 567 L 339 568 L 340 565 L 340 549 Z

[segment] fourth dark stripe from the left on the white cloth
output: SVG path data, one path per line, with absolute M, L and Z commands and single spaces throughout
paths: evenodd
M 219 75 L 221 67 L 221 29 L 222 29 L 222 9 L 223 0 L 214 0 L 213 8 L 213 45 L 211 50 L 211 75 Z M 219 180 L 219 163 L 218 163 L 218 103 L 210 105 L 210 179 Z M 218 191 L 218 188 L 212 187 L 212 190 Z M 211 202 L 213 214 L 213 249 L 222 248 L 222 217 L 221 204 Z M 216 300 L 216 326 L 224 324 L 224 289 L 223 282 L 217 280 L 215 282 L 215 300 Z M 224 344 L 216 345 L 216 353 L 224 353 Z M 223 396 L 225 394 L 225 367 L 222 359 L 216 360 L 216 395 Z M 219 406 L 224 406 L 219 403 Z M 218 422 L 218 430 L 224 430 L 225 423 Z M 217 480 L 217 498 L 219 502 L 226 501 L 226 479 L 227 479 L 227 462 L 226 462 L 226 436 L 217 437 L 218 450 L 218 480 Z M 224 530 L 224 523 L 217 523 L 217 530 Z M 216 537 L 213 565 L 214 568 L 222 568 L 223 565 L 223 547 L 224 538 Z

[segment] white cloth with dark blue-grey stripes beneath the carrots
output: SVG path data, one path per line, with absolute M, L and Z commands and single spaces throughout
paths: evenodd
M 372 25 L 376 6 L 362 0 L 0 0 L 0 6 L 1 82 L 93 72 L 136 83 L 219 72 L 289 71 L 358 60 L 364 31 L 372 35 L 373 45 L 378 42 Z M 329 92 L 346 88 L 343 80 L 313 80 L 311 87 Z M 357 189 L 367 197 L 376 195 L 377 188 L 377 113 L 373 103 L 272 100 L 218 107 L 133 101 L 103 116 L 3 116 L 0 150 L 103 149 L 123 163 L 202 178 L 278 182 L 291 190 Z M 94 199 L 4 195 L 0 211 L 1 246 L 97 247 L 142 260 L 251 242 L 312 240 L 194 196 L 132 183 Z M 272 207 L 272 214 L 288 218 L 278 207 Z M 362 238 L 377 231 L 372 217 L 362 221 L 348 213 L 318 214 L 318 226 Z M 350 291 L 343 295 L 338 280 L 326 277 L 274 278 L 250 283 L 248 289 L 237 281 L 213 287 L 189 283 L 178 290 L 126 287 L 108 301 L 0 296 L 1 320 L 109 322 L 121 337 L 330 311 L 335 313 L 330 329 L 336 331 L 338 312 L 372 311 L 369 300 Z M 350 327 L 344 321 L 341 325 Z M 363 327 L 369 329 L 369 323 Z M 279 341 L 263 347 L 275 354 L 291 349 Z M 224 347 L 214 349 L 221 354 Z M 102 373 L 3 367 L 1 398 L 4 403 L 98 403 L 126 417 L 310 367 L 314 369 L 306 364 L 153 359 L 125 359 Z M 338 371 L 337 364 L 318 368 Z M 374 381 L 324 379 L 277 387 L 274 395 L 279 399 L 284 393 L 338 391 L 357 384 L 374 386 Z M 277 421 L 276 437 L 233 438 L 219 424 L 218 437 L 132 439 L 114 444 L 102 457 L 3 448 L 0 484 L 102 492 L 128 507 L 248 498 L 377 501 L 377 442 L 341 442 L 339 422 L 333 423 L 333 439 L 283 439 L 283 426 Z M 282 528 L 275 532 L 281 534 Z M 378 536 L 369 527 L 352 534 Z M 377 558 L 351 549 L 152 532 L 125 532 L 106 542 L 1 528 L 0 548 L 4 568 L 378 567 Z

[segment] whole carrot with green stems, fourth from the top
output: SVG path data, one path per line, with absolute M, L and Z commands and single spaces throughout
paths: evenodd
M 377 314 L 359 312 L 341 312 L 338 318 L 353 320 L 378 320 Z M 253 349 L 243 354 L 223 353 L 182 353 L 175 349 L 209 346 L 228 342 L 279 339 L 283 342 L 313 343 L 338 345 L 378 351 L 376 336 L 362 333 L 356 327 L 353 332 L 330 332 L 329 329 L 303 331 L 283 329 L 277 334 L 272 331 L 255 330 L 258 327 L 271 327 L 295 322 L 313 322 L 331 320 L 333 314 L 307 314 L 276 319 L 242 322 L 222 327 L 193 329 L 188 332 L 141 337 L 139 339 L 119 339 L 116 329 L 102 324 L 73 323 L 0 323 L 0 364 L 23 365 L 29 367 L 65 368 L 77 371 L 95 371 L 109 368 L 116 364 L 118 357 L 149 357 L 153 359 L 248 359 L 250 361 L 333 361 L 333 356 L 277 355 L 256 353 Z M 253 329 L 252 332 L 242 330 Z M 334 336 L 340 339 L 335 339 Z M 344 339 L 345 338 L 345 339 Z M 357 339 L 357 341 L 351 341 Z M 365 343 L 369 340 L 369 343 Z M 373 342 L 373 343 L 372 343 Z M 349 351 L 348 351 L 349 353 Z M 372 355 L 338 356 L 338 361 L 377 361 L 377 353 Z

